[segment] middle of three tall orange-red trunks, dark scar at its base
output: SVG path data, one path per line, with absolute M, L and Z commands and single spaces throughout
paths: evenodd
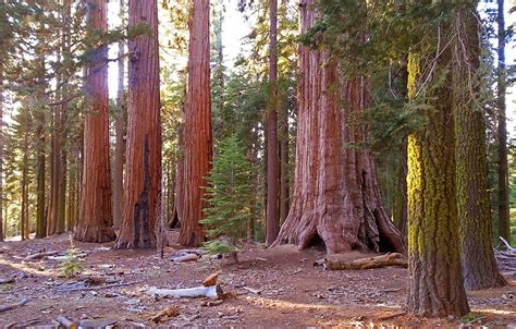
M 123 221 L 115 248 L 156 247 L 161 194 L 158 1 L 132 0 L 128 29 L 149 33 L 128 41 L 128 111 Z M 84 192 L 83 192 L 84 193 Z

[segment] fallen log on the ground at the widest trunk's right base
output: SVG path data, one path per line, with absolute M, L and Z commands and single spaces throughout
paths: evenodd
M 407 267 L 407 259 L 405 259 L 405 256 L 397 253 L 353 260 L 334 259 L 332 257 L 327 257 L 324 259 L 325 270 L 370 269 L 385 266 Z

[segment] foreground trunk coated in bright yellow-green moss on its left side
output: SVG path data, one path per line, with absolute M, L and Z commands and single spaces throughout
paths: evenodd
M 438 69 L 445 68 L 450 50 L 437 61 Z M 409 56 L 410 99 L 419 87 L 422 63 L 419 54 Z M 443 84 L 452 82 L 447 78 Z M 428 111 L 428 124 L 408 137 L 407 308 L 413 315 L 430 317 L 469 313 L 460 270 L 454 123 L 446 86 L 441 85 L 431 95 L 437 103 Z

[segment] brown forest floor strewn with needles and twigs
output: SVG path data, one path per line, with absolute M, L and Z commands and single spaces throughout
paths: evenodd
M 115 327 L 156 327 L 157 322 L 149 317 L 171 305 L 179 315 L 164 319 L 161 326 L 458 328 L 469 322 L 474 327 L 516 328 L 514 270 L 506 272 L 509 287 L 468 292 L 472 316 L 423 319 L 403 314 L 406 269 L 324 271 L 314 266 L 315 260 L 324 256 L 317 248 L 265 249 L 249 244 L 241 254 L 241 263 L 231 265 L 223 259 L 202 258 L 173 263 L 173 247 L 167 247 L 164 258 L 160 259 L 155 251 L 113 251 L 109 248 L 111 244 L 75 245 L 86 254 L 84 269 L 76 278 L 66 279 L 59 260 L 51 257 L 27 260 L 26 256 L 44 251 L 64 255 L 70 246 L 67 234 L 0 243 L 0 280 L 14 279 L 0 284 L 0 308 L 29 298 L 22 307 L 0 310 L 0 328 L 27 325 L 49 328 L 58 316 L 98 324 L 113 319 Z M 364 255 L 352 253 L 347 257 Z M 516 267 L 516 258 L 508 261 Z M 507 265 L 502 264 L 502 269 Z M 205 306 L 205 298 L 158 298 L 146 293 L 149 288 L 198 287 L 213 272 L 219 272 L 224 292 L 233 294 L 220 305 Z M 96 290 L 60 291 L 81 288 L 87 281 L 98 284 L 91 285 Z M 128 284 L 105 287 L 119 283 Z

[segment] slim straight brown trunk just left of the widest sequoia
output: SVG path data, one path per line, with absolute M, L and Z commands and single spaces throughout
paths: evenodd
M 278 220 L 278 0 L 270 0 L 270 29 L 269 29 L 269 83 L 270 106 L 267 111 L 267 239 L 272 244 L 280 231 Z

